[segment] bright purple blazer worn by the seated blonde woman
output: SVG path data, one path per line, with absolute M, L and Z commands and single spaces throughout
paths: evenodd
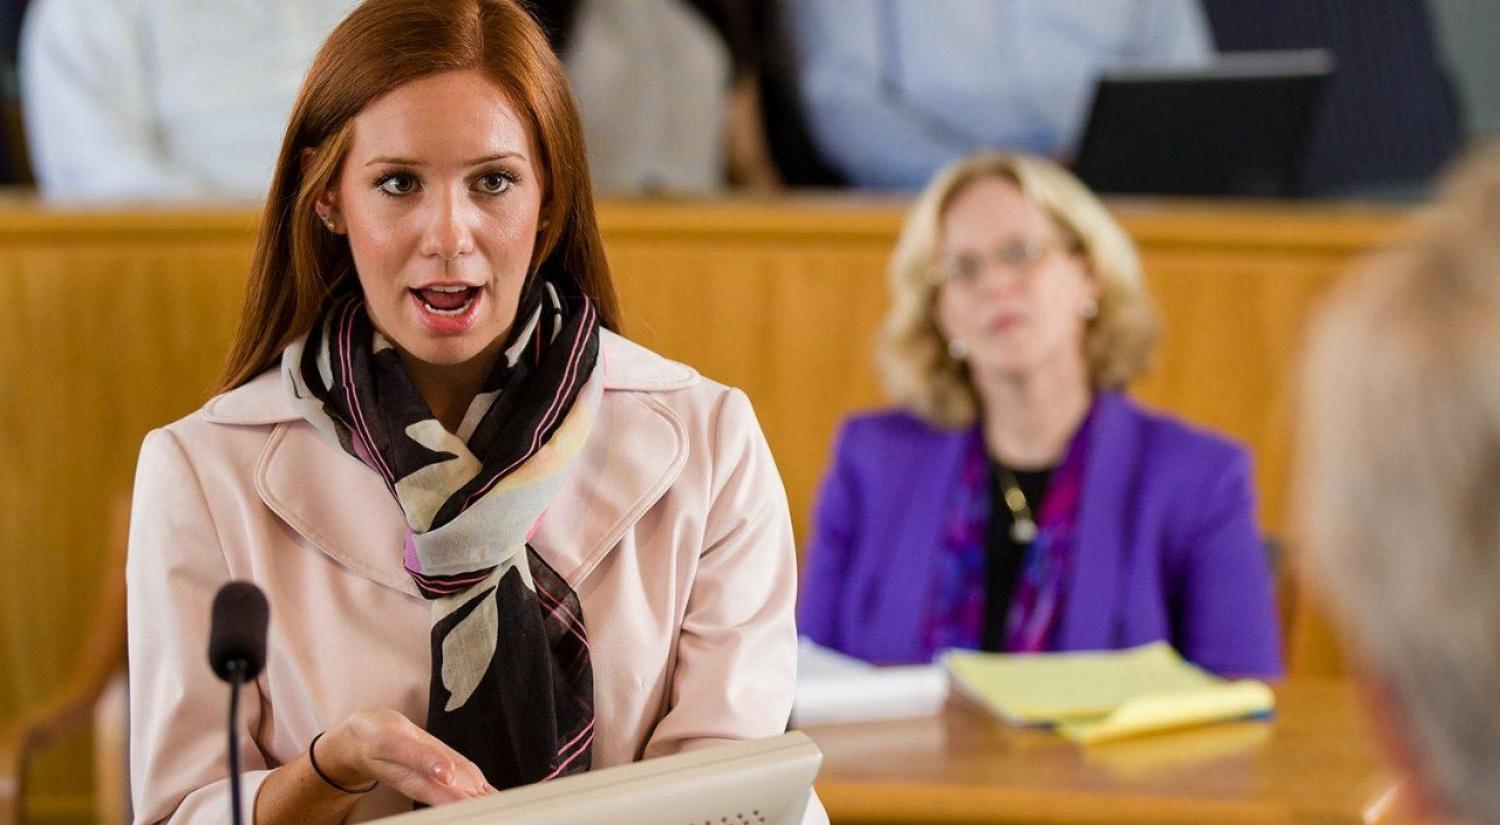
M 1250 454 L 1119 394 L 1096 404 L 1056 650 L 1166 639 L 1218 674 L 1280 675 Z M 868 662 L 932 660 L 942 519 L 978 438 L 908 412 L 844 422 L 806 552 L 802 634 Z

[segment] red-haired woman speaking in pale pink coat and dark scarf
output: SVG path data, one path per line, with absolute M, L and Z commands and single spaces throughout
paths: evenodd
M 222 822 L 210 600 L 272 604 L 243 807 L 339 822 L 778 734 L 786 498 L 744 394 L 627 342 L 562 70 L 514 0 L 318 54 L 224 393 L 147 436 L 140 822 Z

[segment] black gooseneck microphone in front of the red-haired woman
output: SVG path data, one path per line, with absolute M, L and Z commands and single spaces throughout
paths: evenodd
M 230 822 L 240 825 L 240 686 L 266 666 L 266 626 L 272 609 L 250 582 L 230 582 L 213 597 L 208 666 L 230 682 Z

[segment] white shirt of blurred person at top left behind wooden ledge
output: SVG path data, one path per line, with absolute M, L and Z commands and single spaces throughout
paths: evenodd
M 21 100 L 42 194 L 260 198 L 324 38 L 357 0 L 34 0 Z

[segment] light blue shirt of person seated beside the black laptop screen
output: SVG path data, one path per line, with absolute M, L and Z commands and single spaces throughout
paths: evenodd
M 981 148 L 1071 154 L 1100 72 L 1200 66 L 1197 0 L 789 0 L 813 140 L 855 186 Z

